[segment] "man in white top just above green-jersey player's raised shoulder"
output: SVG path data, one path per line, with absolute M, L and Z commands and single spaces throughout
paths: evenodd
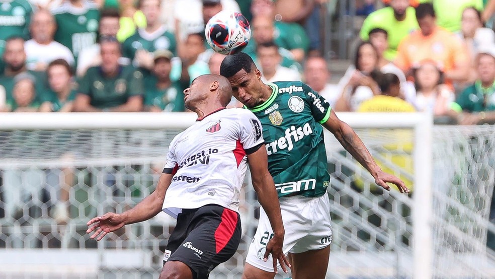
M 323 57 L 311 56 L 306 60 L 304 82 L 325 98 L 332 108 L 335 108 L 340 90 L 336 84 L 328 83 L 329 79 L 330 71 Z

